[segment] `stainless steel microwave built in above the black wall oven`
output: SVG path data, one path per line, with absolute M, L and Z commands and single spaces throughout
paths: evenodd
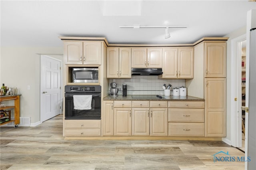
M 73 83 L 98 83 L 98 67 L 72 68 Z

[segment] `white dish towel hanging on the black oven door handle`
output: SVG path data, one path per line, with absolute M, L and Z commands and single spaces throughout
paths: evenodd
M 92 95 L 73 95 L 74 109 L 90 110 L 92 109 Z

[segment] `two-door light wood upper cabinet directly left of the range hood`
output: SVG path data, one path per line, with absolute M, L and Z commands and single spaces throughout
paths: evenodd
M 131 78 L 131 48 L 107 48 L 107 78 Z

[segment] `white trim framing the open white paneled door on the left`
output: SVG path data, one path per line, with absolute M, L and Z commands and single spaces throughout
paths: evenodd
M 63 75 L 63 61 L 62 60 L 60 60 L 60 59 L 57 59 L 57 58 L 55 58 L 55 57 L 52 57 L 52 56 L 60 56 L 60 57 L 63 57 L 63 54 L 39 54 L 40 56 L 40 78 L 39 78 L 39 81 L 40 81 L 40 83 L 39 83 L 39 85 L 40 85 L 40 88 L 39 88 L 39 90 L 40 90 L 40 97 L 39 97 L 39 102 L 40 102 L 40 108 L 39 108 L 39 111 L 40 111 L 40 114 L 39 114 L 39 117 L 40 117 L 40 123 L 42 123 L 42 116 L 41 116 L 41 114 L 42 114 L 42 112 L 41 112 L 41 95 L 42 95 L 42 93 L 41 93 L 41 73 L 42 73 L 42 57 L 43 56 L 45 56 L 45 57 L 48 57 L 48 58 L 50 58 L 50 59 L 54 59 L 54 60 L 56 60 L 56 61 L 60 61 L 60 67 L 62 67 L 62 69 L 60 69 L 60 87 L 61 87 L 61 89 L 63 89 L 63 78 L 62 78 L 62 75 Z M 63 95 L 62 95 L 62 90 L 60 89 L 60 100 L 62 100 L 62 101 L 60 101 L 61 102 L 61 110 L 63 110 Z

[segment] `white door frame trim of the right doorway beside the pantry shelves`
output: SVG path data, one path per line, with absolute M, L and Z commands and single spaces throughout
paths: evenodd
M 234 147 L 242 147 L 242 111 L 240 104 L 242 103 L 242 84 L 241 84 L 241 51 L 242 41 L 246 40 L 246 34 L 231 40 L 231 98 L 230 98 L 230 130 L 231 145 Z M 237 98 L 237 101 L 234 99 Z

